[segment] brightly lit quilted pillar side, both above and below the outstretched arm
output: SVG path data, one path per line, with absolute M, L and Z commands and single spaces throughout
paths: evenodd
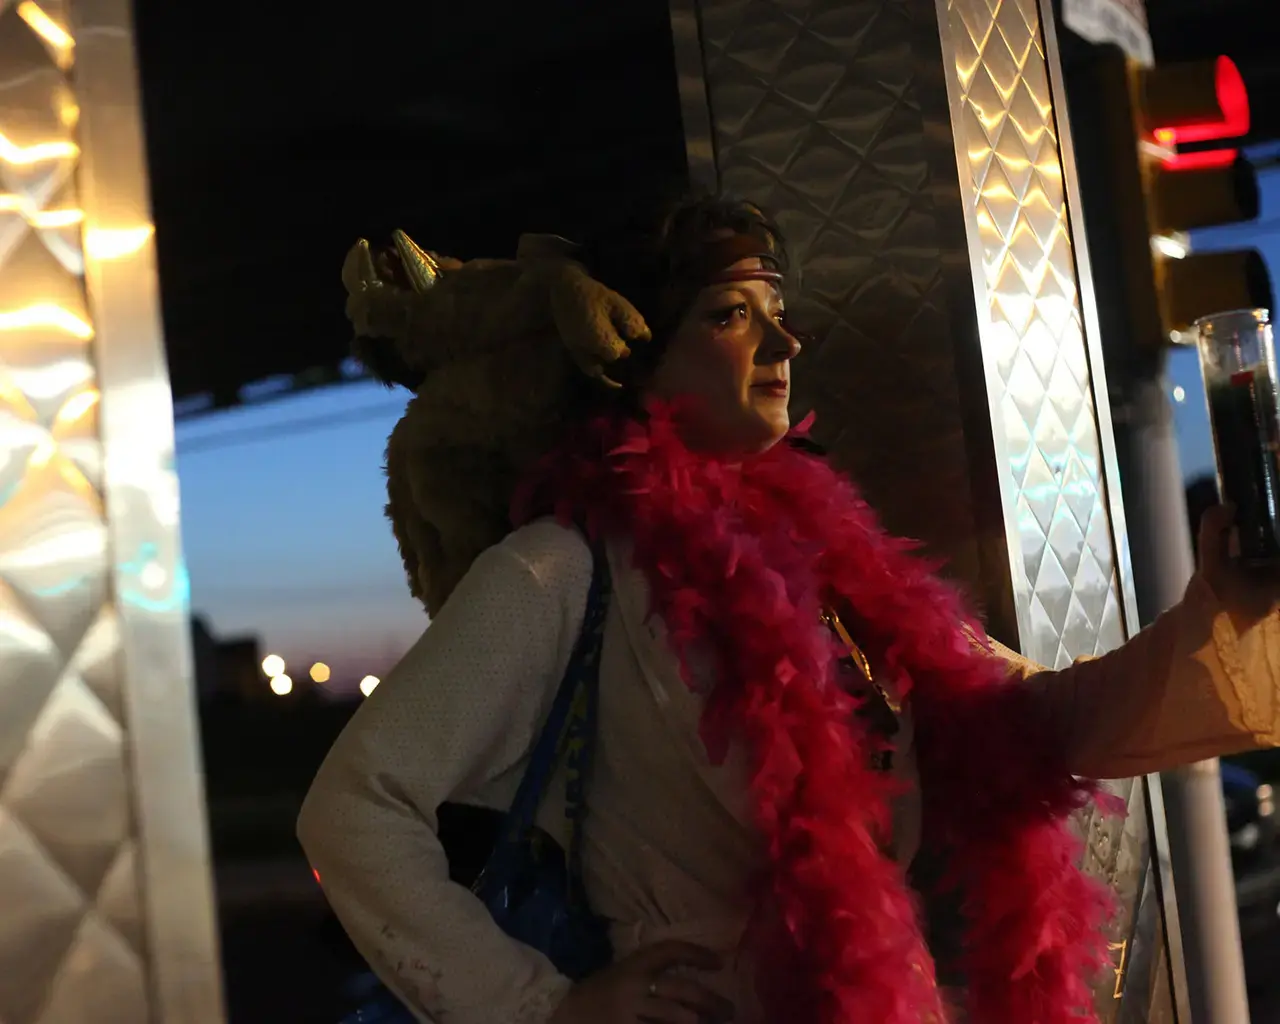
M 1085 338 L 1087 320 L 1096 330 L 1082 300 L 1088 280 L 1078 278 L 1087 260 L 1073 251 L 1052 26 L 1042 27 L 1038 0 L 942 0 L 938 10 L 1019 635 L 1036 660 L 1064 666 L 1124 643 L 1132 594 L 1116 568 L 1124 525 L 1108 504 L 1114 444 L 1098 339 Z M 1119 908 L 1108 934 L 1114 978 L 1096 989 L 1097 1007 L 1115 1024 L 1164 1024 L 1174 1018 L 1162 927 L 1171 905 L 1157 886 L 1160 786 L 1111 787 L 1129 808 L 1125 819 L 1089 808 L 1076 820 L 1084 868 Z M 1176 928 L 1176 914 L 1170 920 Z

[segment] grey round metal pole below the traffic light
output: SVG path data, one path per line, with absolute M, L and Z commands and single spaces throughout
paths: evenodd
M 1116 411 L 1138 613 L 1146 626 L 1181 600 L 1192 576 L 1190 531 L 1172 411 L 1160 378 L 1128 381 Z M 1235 878 L 1216 760 L 1161 777 L 1181 922 L 1190 1021 L 1248 1024 Z

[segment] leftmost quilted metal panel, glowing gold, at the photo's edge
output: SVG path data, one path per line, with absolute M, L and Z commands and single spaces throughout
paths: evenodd
M 60 4 L 0 4 L 0 1020 L 148 1018 Z

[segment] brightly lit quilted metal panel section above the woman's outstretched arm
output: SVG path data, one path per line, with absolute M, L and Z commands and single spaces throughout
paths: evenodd
M 1124 617 L 1039 13 L 1037 0 L 947 12 L 1028 588 L 1023 652 L 1061 666 L 1123 643 Z

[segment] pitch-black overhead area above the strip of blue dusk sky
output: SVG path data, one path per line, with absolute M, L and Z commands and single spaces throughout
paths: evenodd
M 137 23 L 179 396 L 340 360 L 357 236 L 500 253 L 684 166 L 662 0 L 138 0 Z

